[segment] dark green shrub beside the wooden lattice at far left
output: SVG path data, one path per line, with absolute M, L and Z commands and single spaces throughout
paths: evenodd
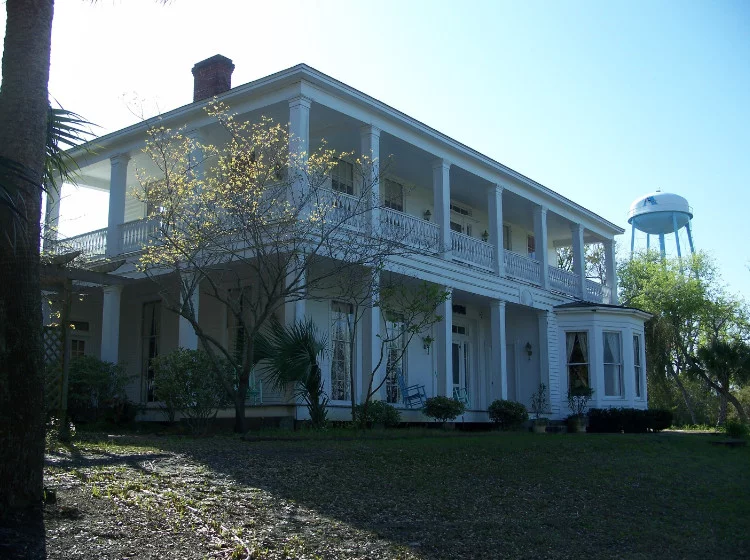
M 45 401 L 53 414 L 60 406 L 62 371 L 48 368 L 45 373 Z M 127 403 L 128 381 L 121 365 L 94 356 L 79 356 L 68 365 L 68 417 L 74 422 L 96 421 Z

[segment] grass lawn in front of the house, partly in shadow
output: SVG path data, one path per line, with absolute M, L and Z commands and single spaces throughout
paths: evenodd
M 750 557 L 750 449 L 716 436 L 392 433 L 84 435 L 48 456 L 48 555 Z

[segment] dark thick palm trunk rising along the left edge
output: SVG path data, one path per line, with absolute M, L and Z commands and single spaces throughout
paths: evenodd
M 44 529 L 44 376 L 39 242 L 53 0 L 7 0 L 0 156 L 31 181 L 2 177 L 21 216 L 0 207 L 0 520 Z M 23 557 L 44 557 L 44 534 Z M 32 537 L 33 538 L 33 537 Z M 0 556 L 9 552 L 0 538 Z M 29 543 L 27 543 L 28 545 Z M 28 550 L 28 549 L 27 549 Z

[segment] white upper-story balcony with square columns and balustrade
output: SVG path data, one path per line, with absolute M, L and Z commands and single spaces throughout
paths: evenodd
M 325 143 L 336 152 L 377 160 L 380 228 L 399 242 L 439 247 L 435 257 L 470 267 L 488 280 L 510 279 L 572 298 L 616 302 L 612 243 L 621 228 L 407 115 L 305 66 L 240 86 L 222 99 L 237 108 L 238 118 L 289 123 L 290 133 L 310 152 Z M 227 141 L 201 102 L 167 113 L 159 122 L 172 128 L 190 123 L 188 134 L 208 144 Z M 158 228 L 132 194 L 138 185 L 135 169 L 153 170 L 141 150 L 147 126 L 98 139 L 93 154 L 75 154 L 81 188 L 109 193 L 108 226 L 60 239 L 48 249 L 81 250 L 97 260 L 136 254 L 150 240 L 158 243 Z M 330 191 L 342 213 L 356 203 L 346 192 Z M 54 226 L 59 205 L 53 201 L 47 208 L 47 225 Z M 370 227 L 370 221 L 351 227 Z M 602 283 L 585 276 L 586 243 L 604 243 L 607 249 Z M 555 251 L 565 246 L 573 249 L 572 271 L 555 266 Z

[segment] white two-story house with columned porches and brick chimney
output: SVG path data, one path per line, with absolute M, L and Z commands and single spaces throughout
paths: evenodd
M 451 294 L 441 304 L 442 321 L 415 337 L 399 364 L 407 384 L 424 385 L 428 396 L 467 396 L 466 421 L 487 421 L 487 406 L 495 399 L 528 406 L 540 383 L 549 388 L 550 418 L 569 413 L 567 393 L 574 384 L 594 389 L 592 406 L 647 406 L 647 314 L 617 305 L 614 238 L 623 229 L 309 66 L 231 88 L 233 68 L 221 56 L 197 64 L 194 102 L 162 115 L 161 123 L 187 127 L 211 141 L 215 132 L 204 106 L 216 96 L 239 119 L 266 116 L 288 123 L 290 133 L 311 150 L 325 140 L 336 150 L 375 160 L 388 156 L 391 165 L 378 185 L 384 201 L 380 219 L 390 227 L 406 224 L 410 235 L 437 239 L 448 249 L 415 253 L 399 263 L 398 274 L 438 284 Z M 98 138 L 91 143 L 95 151 L 73 152 L 80 188 L 109 193 L 108 225 L 64 243 L 58 240 L 56 249 L 80 249 L 92 263 L 125 260 L 117 275 L 128 282 L 78 287 L 85 297 L 72 305 L 70 318 L 78 328 L 70 344 L 74 355 L 125 364 L 135 380 L 128 394 L 145 405 L 146 419 L 158 417 L 156 403 L 150 403 L 149 360 L 178 346 L 198 346 L 190 324 L 162 305 L 157 287 L 134 264 L 151 232 L 147 208 L 133 194 L 135 169 L 147 165 L 143 147 L 149 124 Z M 336 184 L 345 183 L 346 175 L 346 170 L 340 173 Z M 61 206 L 65 213 L 65 201 L 61 205 L 51 194 L 50 228 Z M 584 250 L 594 243 L 604 247 L 602 280 L 586 276 Z M 572 248 L 572 272 L 556 266 L 561 247 Z M 209 298 L 198 293 L 194 303 L 201 323 L 217 337 L 229 336 L 226 317 Z M 335 326 L 348 312 L 335 295 L 315 294 L 288 305 L 294 309 L 281 315 L 312 318 L 329 333 L 330 345 L 347 344 L 335 336 Z M 378 351 L 378 329 L 386 328 L 377 308 L 371 313 L 371 328 L 359 333 L 355 359 L 344 366 L 354 369 L 355 387 L 341 390 L 331 378 L 335 352 L 324 360 L 331 419 L 348 418 L 348 391 L 361 398 L 365 372 Z M 340 375 L 340 367 L 334 375 Z M 268 386 L 260 391 L 256 383 L 248 416 L 304 418 L 304 406 Z M 380 398 L 403 406 L 398 392 L 386 385 Z M 402 418 L 422 419 L 414 409 L 404 410 Z

